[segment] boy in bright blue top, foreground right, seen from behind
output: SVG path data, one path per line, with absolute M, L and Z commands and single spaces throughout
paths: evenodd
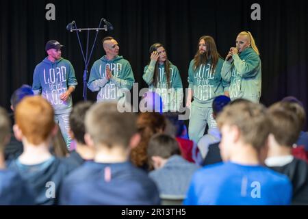
M 197 170 L 186 205 L 288 205 L 292 186 L 284 175 L 260 165 L 270 133 L 266 108 L 241 101 L 224 107 L 217 118 L 223 163 Z

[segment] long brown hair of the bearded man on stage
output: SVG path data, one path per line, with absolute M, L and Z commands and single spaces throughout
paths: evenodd
M 205 45 L 207 46 L 207 51 L 205 51 L 205 54 L 199 53 L 199 43 L 201 40 L 204 40 Z M 201 64 L 206 64 L 207 61 L 211 59 L 211 72 L 214 73 L 219 57 L 220 55 L 217 51 L 214 38 L 211 36 L 201 36 L 198 41 L 196 55 L 194 55 L 194 70 L 200 67 Z

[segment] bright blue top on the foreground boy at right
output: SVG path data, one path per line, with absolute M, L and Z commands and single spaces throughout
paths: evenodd
M 289 205 L 292 185 L 263 166 L 219 163 L 198 170 L 185 205 Z

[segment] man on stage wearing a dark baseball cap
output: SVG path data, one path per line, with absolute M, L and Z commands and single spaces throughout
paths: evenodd
M 72 96 L 77 86 L 75 70 L 68 60 L 61 57 L 64 47 L 57 40 L 49 40 L 45 46 L 48 56 L 34 69 L 32 90 L 51 103 L 55 110 L 55 122 L 59 124 L 66 146 L 70 145 L 68 135 L 69 114 L 72 111 Z

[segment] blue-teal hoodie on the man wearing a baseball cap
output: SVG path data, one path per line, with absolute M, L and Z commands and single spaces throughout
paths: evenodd
M 67 101 L 62 101 L 60 96 L 72 86 L 77 86 L 75 70 L 68 60 L 60 58 L 51 62 L 46 57 L 34 69 L 32 90 L 34 94 L 42 94 L 53 106 L 55 114 L 65 114 L 72 110 L 72 95 Z

